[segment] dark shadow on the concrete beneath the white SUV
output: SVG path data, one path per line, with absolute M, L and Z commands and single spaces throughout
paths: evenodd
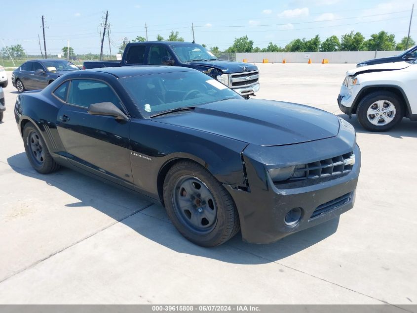
M 403 138 L 403 137 L 413 137 L 417 138 L 417 122 L 410 121 L 408 118 L 403 118 L 400 123 L 397 124 L 394 128 L 387 132 L 369 132 L 365 130 L 362 125 L 359 124 L 356 115 L 352 115 L 352 118 L 349 119 L 347 114 L 338 114 L 339 117 L 346 120 L 350 124 L 353 125 L 355 128 L 356 133 L 364 133 L 364 134 L 381 134 L 381 135 L 389 135 L 394 138 Z

